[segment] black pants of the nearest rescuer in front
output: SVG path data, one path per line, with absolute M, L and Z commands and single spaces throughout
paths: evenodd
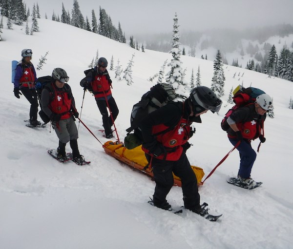
M 146 154 L 150 161 L 150 156 Z M 191 169 L 185 153 L 178 161 L 166 161 L 152 158 L 151 166 L 156 182 L 153 195 L 154 203 L 164 203 L 166 196 L 174 184 L 172 172 L 181 179 L 184 206 L 187 209 L 196 209 L 200 206 L 200 195 L 198 193 L 197 179 Z

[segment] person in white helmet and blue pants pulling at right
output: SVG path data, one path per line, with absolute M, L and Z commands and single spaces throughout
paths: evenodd
M 267 94 L 256 97 L 255 102 L 232 112 L 227 118 L 230 128 L 227 130 L 232 145 L 237 146 L 240 154 L 240 166 L 236 184 L 243 188 L 253 188 L 257 183 L 251 178 L 251 170 L 256 159 L 256 153 L 251 147 L 251 140 L 259 138 L 266 141 L 263 135 L 263 124 L 266 113 L 272 107 L 272 98 Z

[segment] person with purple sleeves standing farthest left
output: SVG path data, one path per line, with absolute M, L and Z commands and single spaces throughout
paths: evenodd
M 35 89 L 35 81 L 37 79 L 36 71 L 31 62 L 33 52 L 31 49 L 23 49 L 21 51 L 22 59 L 16 67 L 14 77 L 14 96 L 20 98 L 24 95 L 31 104 L 29 112 L 29 121 L 32 126 L 41 125 L 38 118 L 38 96 Z M 21 92 L 20 92 L 21 91 Z M 22 93 L 22 94 L 21 94 Z

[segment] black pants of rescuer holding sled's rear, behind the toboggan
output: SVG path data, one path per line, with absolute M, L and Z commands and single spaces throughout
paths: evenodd
M 117 107 L 117 104 L 115 102 L 115 99 L 113 97 L 109 98 L 108 100 L 108 104 L 109 104 L 109 108 L 110 108 L 110 113 L 112 114 L 112 117 L 108 114 L 107 111 L 107 102 L 105 100 L 97 100 L 97 105 L 99 107 L 99 110 L 102 114 L 102 119 L 103 119 L 103 126 L 105 129 L 105 135 L 111 134 L 111 127 L 113 125 L 113 121 L 115 121 L 116 117 L 118 116 L 119 110 Z

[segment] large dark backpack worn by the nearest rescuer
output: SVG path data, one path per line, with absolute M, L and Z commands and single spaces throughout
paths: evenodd
M 142 96 L 142 99 L 133 106 L 131 111 L 131 126 L 126 129 L 127 135 L 124 139 L 124 144 L 127 149 L 131 150 L 143 142 L 143 136 L 139 127 L 141 120 L 149 113 L 173 101 L 175 97 L 176 94 L 173 87 L 167 83 L 156 84 Z M 133 133 L 131 133 L 132 131 Z

